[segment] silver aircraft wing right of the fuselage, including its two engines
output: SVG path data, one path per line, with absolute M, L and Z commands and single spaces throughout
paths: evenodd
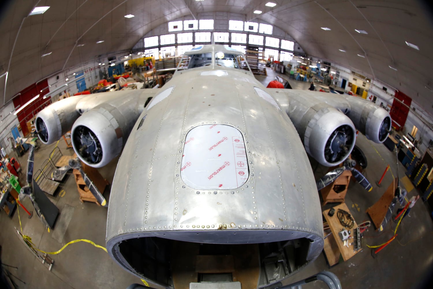
M 293 122 L 305 150 L 324 166 L 336 166 L 355 145 L 355 128 L 375 143 L 391 129 L 385 109 L 361 97 L 266 88 Z

